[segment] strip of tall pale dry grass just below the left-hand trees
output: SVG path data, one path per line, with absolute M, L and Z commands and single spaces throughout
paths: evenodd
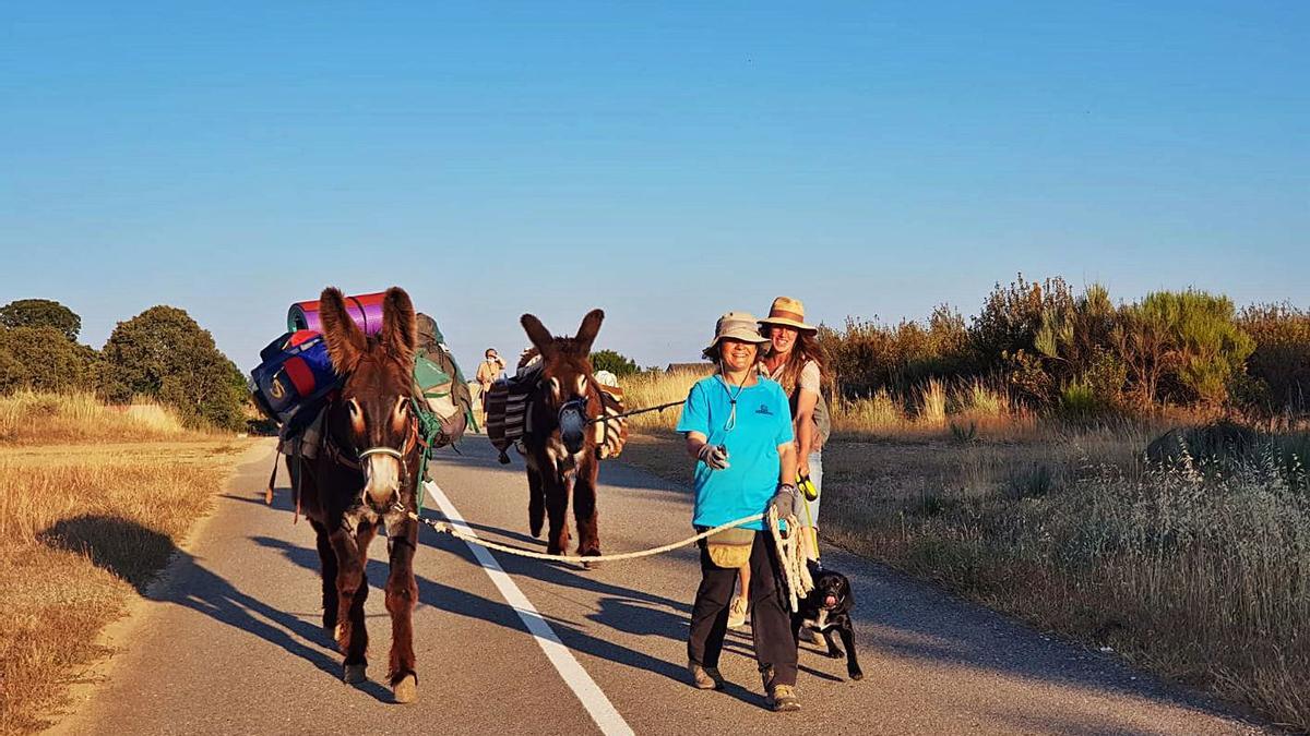
M 18 392 L 0 397 L 0 443 L 152 441 L 203 436 L 155 403 L 105 406 L 94 394 Z

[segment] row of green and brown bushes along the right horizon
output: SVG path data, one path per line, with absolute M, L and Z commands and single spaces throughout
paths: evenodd
M 1237 310 L 1222 295 L 1161 291 L 1116 304 L 1064 279 L 997 284 L 976 316 L 950 306 L 896 325 L 848 320 L 820 344 L 845 397 L 908 398 L 927 380 L 986 381 L 1034 409 L 1310 410 L 1310 314 Z

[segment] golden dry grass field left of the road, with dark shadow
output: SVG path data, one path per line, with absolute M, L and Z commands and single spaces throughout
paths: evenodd
M 100 630 L 206 513 L 240 449 L 156 406 L 0 398 L 0 733 L 45 726 L 105 653 Z

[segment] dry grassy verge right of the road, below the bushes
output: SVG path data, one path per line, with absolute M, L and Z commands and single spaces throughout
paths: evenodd
M 938 406 L 960 409 L 942 414 L 875 402 L 834 415 L 820 520 L 829 543 L 1310 729 L 1310 481 L 1300 460 L 1310 433 L 1221 465 L 1157 468 L 1146 445 L 1186 418 L 1076 427 L 1009 409 L 981 422 L 988 413 L 950 398 Z M 972 432 L 959 430 L 967 413 Z M 641 427 L 624 460 L 686 483 L 675 423 L 676 411 Z

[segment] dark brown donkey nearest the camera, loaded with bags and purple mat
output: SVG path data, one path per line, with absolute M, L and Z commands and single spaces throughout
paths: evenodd
M 362 682 L 368 665 L 364 567 L 369 542 L 385 526 L 386 610 L 392 616 L 386 678 L 396 702 L 407 703 L 418 697 L 411 621 L 418 601 L 418 524 L 406 516 L 418 509 L 421 492 L 422 439 L 413 406 L 414 305 L 403 289 L 386 289 L 383 329 L 367 337 L 351 321 L 338 289 L 324 289 L 320 304 L 324 339 L 342 384 L 325 409 L 322 448 L 303 461 L 297 487 L 301 509 L 318 537 L 324 629 L 335 633 L 346 656 L 345 681 Z

